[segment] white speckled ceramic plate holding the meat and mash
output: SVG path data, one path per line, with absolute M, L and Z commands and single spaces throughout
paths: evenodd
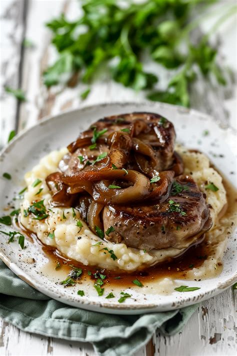
M 133 111 L 154 112 L 166 117 L 174 124 L 179 142 L 207 154 L 215 166 L 236 186 L 236 136 L 230 128 L 220 128 L 213 118 L 194 110 L 161 103 L 94 105 L 45 119 L 29 130 L 23 131 L 10 142 L 1 156 L 1 170 L 10 173 L 12 179 L 2 178 L 1 172 L 0 216 L 5 215 L 5 206 L 22 189 L 24 173 L 30 170 L 40 157 L 54 149 L 66 146 L 75 139 L 79 131 L 86 129 L 89 124 L 103 116 Z M 210 134 L 203 136 L 204 130 L 208 130 Z M 5 225 L 0 226 L 0 229 L 10 230 Z M 54 270 L 53 273 L 47 274 L 45 268 L 47 258 L 30 241 L 26 241 L 27 248 L 21 250 L 17 241 L 7 244 L 7 236 L 1 234 L 0 257 L 20 278 L 54 299 L 89 310 L 139 314 L 193 304 L 220 293 L 233 284 L 236 279 L 236 259 L 233 252 L 236 251 L 235 237 L 232 235 L 228 238 L 223 259 L 224 267 L 218 277 L 199 282 L 178 281 L 182 285 L 191 283 L 192 286 L 198 286 L 200 289 L 186 293 L 173 290 L 169 295 L 149 294 L 144 292 L 143 288 L 128 289 L 136 301 L 128 298 L 124 303 L 118 303 L 117 297 L 105 299 L 104 296 L 96 296 L 92 283 L 77 284 L 75 287 L 68 288 L 55 284 L 55 281 L 60 280 L 58 272 Z M 32 263 L 32 257 L 35 263 Z M 84 297 L 76 294 L 78 289 L 85 291 Z

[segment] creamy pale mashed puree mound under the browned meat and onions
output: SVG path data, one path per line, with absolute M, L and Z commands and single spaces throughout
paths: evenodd
M 221 176 L 210 167 L 210 162 L 205 155 L 189 152 L 181 146 L 177 146 L 176 151 L 183 160 L 184 174 L 190 175 L 200 190 L 206 194 L 206 202 L 211 206 L 210 214 L 213 220 L 213 226 L 207 233 L 207 241 L 214 246 L 213 255 L 208 256 L 202 266 L 188 272 L 188 277 L 203 277 L 207 274 L 209 276 L 208 270 L 213 270 L 213 267 L 221 261 L 225 247 L 225 230 L 228 228 L 228 223 L 222 219 L 222 226 L 221 221 L 218 222 L 218 214 L 226 204 L 226 192 Z M 51 207 L 52 197 L 45 178 L 58 170 L 58 163 L 66 152 L 67 149 L 63 148 L 49 153 L 40 160 L 38 165 L 25 174 L 28 189 L 24 193 L 20 214 L 20 222 L 24 227 L 36 233 L 43 244 L 55 247 L 68 258 L 84 265 L 96 265 L 101 268 L 133 271 L 180 254 L 182 250 L 174 248 L 145 251 L 129 248 L 123 243 L 114 244 L 102 241 L 80 219 L 77 210 Z M 40 182 L 33 186 L 36 179 Z M 205 189 L 205 185 L 210 182 L 218 187 L 217 191 Z M 33 202 L 42 200 L 48 215 L 45 219 L 36 220 L 32 214 L 25 214 L 25 210 Z M 117 258 L 111 258 L 111 253 Z

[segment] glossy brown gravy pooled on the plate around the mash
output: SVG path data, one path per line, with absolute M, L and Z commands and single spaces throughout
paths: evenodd
M 227 206 L 225 211 L 220 212 L 220 216 L 231 217 L 236 211 L 237 207 L 237 194 L 235 188 L 227 180 L 223 179 L 223 185 L 226 190 Z M 223 210 L 223 209 L 222 209 Z M 232 223 L 233 224 L 233 223 Z M 94 280 L 93 274 L 95 272 L 102 273 L 106 275 L 104 283 L 110 286 L 117 287 L 131 287 L 134 286 L 132 280 L 139 279 L 139 281 L 145 285 L 148 282 L 154 282 L 158 279 L 169 277 L 172 279 L 183 279 L 185 278 L 187 272 L 192 268 L 196 268 L 202 265 L 203 261 L 211 254 L 212 246 L 209 246 L 206 239 L 201 243 L 189 247 L 181 256 L 170 258 L 169 261 L 158 263 L 155 266 L 147 267 L 145 270 L 134 271 L 134 272 L 123 272 L 123 271 L 111 271 L 107 269 L 98 269 L 95 266 L 85 266 L 75 260 L 70 260 L 63 256 L 54 247 L 43 245 L 41 241 L 37 238 L 36 234 L 24 228 L 22 225 L 18 227 L 27 235 L 28 239 L 32 243 L 37 244 L 37 247 L 41 250 L 44 255 L 46 255 L 50 261 L 50 268 L 56 267 L 59 263 L 60 267 L 53 271 L 56 274 L 58 270 L 65 272 L 65 275 L 71 269 L 70 265 L 75 267 L 80 267 L 83 270 L 82 278 L 84 280 L 92 279 Z M 219 266 L 221 263 L 219 262 Z M 53 269 L 54 269 L 53 268 Z M 220 268 L 221 270 L 221 268 Z M 91 272 L 91 276 L 88 275 L 88 271 Z

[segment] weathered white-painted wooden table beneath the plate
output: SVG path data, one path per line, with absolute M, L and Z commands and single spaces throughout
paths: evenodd
M 224 0 L 229 6 L 232 0 Z M 76 0 L 1 0 L 0 2 L 0 54 L 1 85 L 22 88 L 27 102 L 16 100 L 0 93 L 0 138 L 1 145 L 7 141 L 10 130 L 21 130 L 33 125 L 45 115 L 56 114 L 98 102 L 138 101 L 141 93 L 135 94 L 104 78 L 94 83 L 88 98 L 81 102 L 79 93 L 86 87 L 79 84 L 58 94 L 58 89 L 47 91 L 41 83 L 41 73 L 51 63 L 55 53 L 48 47 L 50 34 L 43 23 L 64 11 L 70 18 L 78 14 Z M 213 19 L 203 24 L 208 27 Z M 217 41 L 221 43 L 221 54 L 236 70 L 236 17 L 224 24 Z M 32 40 L 33 49 L 22 49 L 22 38 Z M 165 75 L 163 80 L 165 80 Z M 222 121 L 230 120 L 236 128 L 236 85 L 229 79 L 225 88 L 213 88 L 201 80 L 193 88 L 191 106 L 212 114 Z M 137 356 L 144 355 L 234 355 L 236 353 L 236 291 L 231 288 L 202 302 L 184 329 L 174 336 L 163 336 L 159 332 L 142 348 Z M 0 355 L 94 355 L 90 344 L 69 342 L 51 337 L 23 332 L 0 320 Z

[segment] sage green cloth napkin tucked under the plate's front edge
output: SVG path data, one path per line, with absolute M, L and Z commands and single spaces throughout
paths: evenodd
M 158 327 L 174 334 L 197 304 L 143 315 L 112 315 L 60 303 L 19 279 L 0 260 L 0 316 L 19 329 L 65 340 L 91 342 L 102 356 L 132 355 Z

